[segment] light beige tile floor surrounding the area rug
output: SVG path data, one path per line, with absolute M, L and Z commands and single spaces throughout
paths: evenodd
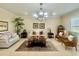
M 1 56 L 78 56 L 79 55 L 79 45 L 78 51 L 75 48 L 70 48 L 65 50 L 64 45 L 57 42 L 55 39 L 48 39 L 57 48 L 58 51 L 15 51 L 25 40 L 20 39 L 17 43 L 8 49 L 0 49 Z

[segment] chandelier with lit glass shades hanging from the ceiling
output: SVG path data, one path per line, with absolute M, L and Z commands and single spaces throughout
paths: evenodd
M 40 3 L 40 9 L 39 11 L 36 11 L 33 14 L 33 17 L 37 20 L 45 20 L 48 17 L 48 12 L 44 11 L 43 9 L 43 3 Z

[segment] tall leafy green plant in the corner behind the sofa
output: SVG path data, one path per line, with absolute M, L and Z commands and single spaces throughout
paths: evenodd
M 15 18 L 13 21 L 15 30 L 18 35 L 20 34 L 20 31 L 23 29 L 23 25 L 24 25 L 23 20 L 24 19 L 22 19 L 21 17 L 18 17 L 18 18 Z

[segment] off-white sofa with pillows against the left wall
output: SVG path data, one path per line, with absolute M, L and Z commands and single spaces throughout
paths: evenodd
M 6 35 L 3 36 L 4 38 L 0 37 L 0 48 L 8 48 L 19 40 L 19 36 L 16 33 L 12 34 L 9 38 Z

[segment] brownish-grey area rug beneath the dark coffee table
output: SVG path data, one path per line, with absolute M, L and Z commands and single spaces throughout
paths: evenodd
M 49 41 L 46 42 L 47 47 L 42 47 L 42 48 L 41 47 L 28 48 L 27 43 L 28 43 L 27 41 L 24 41 L 22 45 L 18 49 L 16 49 L 16 51 L 58 51 L 55 48 L 55 46 Z

